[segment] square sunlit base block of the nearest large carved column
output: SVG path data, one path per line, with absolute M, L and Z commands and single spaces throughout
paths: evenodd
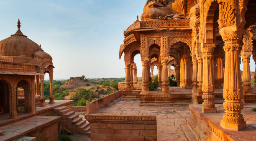
M 238 123 L 238 124 L 233 124 L 233 123 L 225 122 L 222 119 L 220 121 L 220 126 L 224 129 L 228 129 L 228 130 L 232 130 L 232 131 L 240 131 L 241 129 L 246 127 L 246 121 L 242 121 L 241 123 Z

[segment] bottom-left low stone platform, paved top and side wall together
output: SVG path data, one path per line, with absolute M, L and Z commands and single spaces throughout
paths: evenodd
M 33 116 L 5 126 L 0 141 L 12 141 L 20 136 L 34 136 L 42 141 L 57 141 L 59 116 Z

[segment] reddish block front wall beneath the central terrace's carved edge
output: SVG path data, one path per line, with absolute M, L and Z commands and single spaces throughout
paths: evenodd
M 156 141 L 156 124 L 90 123 L 92 141 Z

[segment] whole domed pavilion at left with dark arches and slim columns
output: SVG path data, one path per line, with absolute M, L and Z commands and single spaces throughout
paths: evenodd
M 25 113 L 35 113 L 35 105 L 46 106 L 44 98 L 44 74 L 50 76 L 50 102 L 54 104 L 52 90 L 53 69 L 51 55 L 44 52 L 41 45 L 30 40 L 20 30 L 0 41 L 0 107 L 2 113 L 9 113 L 10 119 L 17 117 L 19 104 Z M 36 95 L 35 95 L 36 79 Z M 41 94 L 39 91 L 41 81 Z M 18 98 L 18 89 L 24 89 L 24 98 Z M 39 101 L 39 102 L 37 102 Z

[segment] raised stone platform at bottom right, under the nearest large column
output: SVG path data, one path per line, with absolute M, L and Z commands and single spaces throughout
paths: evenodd
M 241 131 L 230 131 L 220 126 L 220 120 L 223 119 L 224 109 L 222 104 L 215 104 L 217 113 L 202 113 L 202 105 L 189 105 L 192 111 L 191 119 L 188 125 L 193 133 L 202 141 L 255 141 L 256 140 L 256 112 L 251 109 L 256 104 L 245 104 L 242 109 L 244 120 L 247 123 L 246 128 Z

